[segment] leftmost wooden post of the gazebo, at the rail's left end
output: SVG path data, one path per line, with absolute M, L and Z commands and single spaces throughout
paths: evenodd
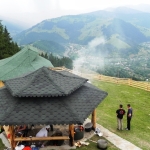
M 14 150 L 15 147 L 16 147 L 16 142 L 14 141 L 14 139 L 15 139 L 14 126 L 9 126 L 9 131 L 10 131 L 10 145 L 11 145 L 11 149 Z

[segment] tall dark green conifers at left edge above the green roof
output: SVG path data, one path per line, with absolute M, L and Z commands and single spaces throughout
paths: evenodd
M 19 50 L 17 43 L 12 41 L 7 28 L 0 22 L 0 59 L 10 57 Z

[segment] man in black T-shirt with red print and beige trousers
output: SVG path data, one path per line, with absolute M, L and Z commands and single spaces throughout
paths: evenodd
M 119 105 L 119 109 L 116 110 L 117 114 L 117 129 L 123 130 L 123 115 L 125 114 L 125 110 L 123 109 L 123 105 Z

